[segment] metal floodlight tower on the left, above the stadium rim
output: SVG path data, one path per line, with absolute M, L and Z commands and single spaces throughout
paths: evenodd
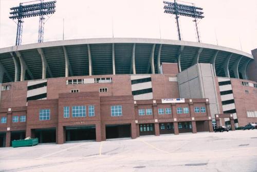
M 37 1 L 31 1 L 27 3 L 34 3 Z M 56 1 L 44 2 L 44 0 L 40 0 L 40 3 L 37 4 L 29 4 L 20 3 L 20 6 L 10 8 L 11 19 L 18 19 L 17 21 L 17 33 L 16 33 L 16 46 L 22 44 L 22 29 L 23 29 L 23 18 L 40 16 L 39 19 L 39 38 L 38 42 L 43 42 L 44 38 L 44 15 L 53 14 L 56 12 Z

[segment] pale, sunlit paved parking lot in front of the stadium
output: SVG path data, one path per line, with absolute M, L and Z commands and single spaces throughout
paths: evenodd
M 6 147 L 0 171 L 257 171 L 257 130 Z

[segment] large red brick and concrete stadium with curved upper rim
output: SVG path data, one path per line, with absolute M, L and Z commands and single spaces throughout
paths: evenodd
M 213 132 L 257 122 L 257 49 L 96 38 L 0 49 L 0 145 Z

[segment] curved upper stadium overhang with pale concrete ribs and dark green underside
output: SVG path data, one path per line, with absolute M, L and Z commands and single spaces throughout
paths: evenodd
M 239 50 L 191 41 L 150 38 L 60 40 L 0 49 L 0 82 L 159 73 L 161 62 L 177 62 L 180 71 L 195 63 L 212 63 L 217 76 L 238 78 L 242 75 L 246 79 L 246 68 L 251 60 L 251 54 Z

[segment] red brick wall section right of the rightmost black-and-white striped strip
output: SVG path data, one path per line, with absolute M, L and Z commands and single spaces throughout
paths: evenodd
M 257 88 L 243 86 L 241 85 L 242 81 L 256 83 L 249 80 L 231 78 L 239 126 L 244 126 L 249 122 L 257 122 L 257 118 L 247 117 L 246 113 L 246 111 L 257 111 Z M 249 94 L 246 94 L 245 90 L 248 90 Z

